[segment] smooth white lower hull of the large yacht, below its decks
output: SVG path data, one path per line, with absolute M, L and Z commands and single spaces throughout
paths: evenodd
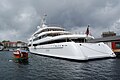
M 74 60 L 89 60 L 115 57 L 114 52 L 104 43 L 63 42 L 29 47 L 30 52 Z

